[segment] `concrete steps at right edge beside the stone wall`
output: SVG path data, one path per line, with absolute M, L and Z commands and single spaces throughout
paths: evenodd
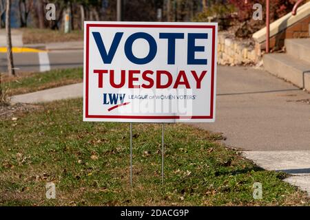
M 267 72 L 310 91 L 310 39 L 285 41 L 286 54 L 265 54 Z

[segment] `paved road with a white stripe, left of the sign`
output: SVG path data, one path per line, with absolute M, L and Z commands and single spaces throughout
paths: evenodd
M 83 41 L 24 45 L 22 35 L 21 31 L 12 29 L 13 47 L 34 47 L 48 52 L 14 53 L 16 72 L 44 72 L 83 66 Z M 0 30 L 0 47 L 6 47 L 5 30 Z M 6 52 L 0 52 L 0 72 L 7 72 Z

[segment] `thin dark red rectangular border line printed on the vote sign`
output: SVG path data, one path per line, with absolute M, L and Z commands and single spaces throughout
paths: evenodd
M 88 75 L 89 75 L 89 43 L 90 28 L 211 28 L 212 29 L 212 65 L 211 65 L 211 103 L 210 115 L 192 115 L 192 116 L 156 116 L 156 115 L 90 115 L 88 114 Z M 123 119 L 213 119 L 214 116 L 214 67 L 215 67 L 215 33 L 216 25 L 152 25 L 152 24 L 86 24 L 86 88 L 85 88 L 85 118 L 123 118 Z

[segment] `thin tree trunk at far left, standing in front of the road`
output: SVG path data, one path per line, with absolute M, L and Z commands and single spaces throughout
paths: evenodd
M 8 73 L 10 75 L 15 75 L 13 54 L 12 54 L 10 13 L 11 13 L 11 0 L 6 0 L 6 41 L 7 41 Z

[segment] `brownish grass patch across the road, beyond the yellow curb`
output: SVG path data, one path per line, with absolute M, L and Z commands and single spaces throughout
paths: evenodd
M 59 30 L 38 28 L 21 28 L 20 30 L 23 32 L 24 44 L 83 41 L 82 30 L 73 30 L 68 34 Z

